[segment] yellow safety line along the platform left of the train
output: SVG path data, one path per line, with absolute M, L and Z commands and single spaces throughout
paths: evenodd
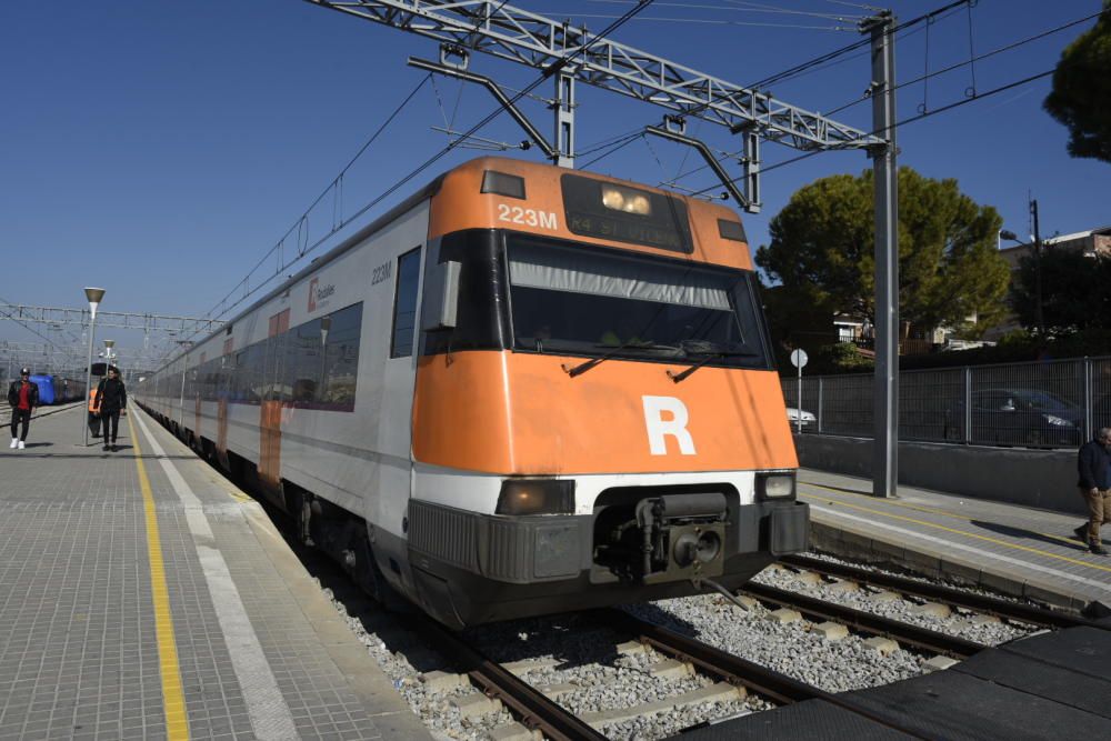
M 139 487 L 142 489 L 143 510 L 147 514 L 147 553 L 150 557 L 150 588 L 154 602 L 154 629 L 158 635 L 158 662 L 162 674 L 162 704 L 166 708 L 166 737 L 169 741 L 189 739 L 189 718 L 186 698 L 181 692 L 181 671 L 178 664 L 178 642 L 173 637 L 173 615 L 170 612 L 170 592 L 166 587 L 166 562 L 162 560 L 162 540 L 158 534 L 154 513 L 154 493 L 147 478 L 139 449 L 139 435 L 128 415 L 128 430 L 136 451 Z

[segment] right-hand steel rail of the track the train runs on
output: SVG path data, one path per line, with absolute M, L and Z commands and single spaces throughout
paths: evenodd
M 903 728 L 898 722 L 875 713 L 844 694 L 833 694 L 812 684 L 800 682 L 792 677 L 741 659 L 662 625 L 641 620 L 624 610 L 609 609 L 601 612 L 607 625 L 638 635 L 642 642 L 658 649 L 661 653 L 689 661 L 707 673 L 720 677 L 731 684 L 745 687 L 780 704 L 821 700 L 900 733 L 913 738 L 925 738 L 921 732 Z

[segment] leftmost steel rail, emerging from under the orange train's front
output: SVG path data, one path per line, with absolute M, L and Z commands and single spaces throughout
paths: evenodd
M 524 725 L 540 730 L 553 741 L 605 741 L 605 737 L 591 725 L 430 618 L 416 615 L 414 622 L 437 650 L 461 667 L 488 697 L 501 700 Z

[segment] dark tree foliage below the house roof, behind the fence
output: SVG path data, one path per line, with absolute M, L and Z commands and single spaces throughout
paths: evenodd
M 1047 333 L 1111 329 L 1111 257 L 1043 248 L 1040 260 Z M 1011 306 L 1028 329 L 1037 324 L 1038 263 L 1034 254 L 1022 258 L 1011 289 Z

